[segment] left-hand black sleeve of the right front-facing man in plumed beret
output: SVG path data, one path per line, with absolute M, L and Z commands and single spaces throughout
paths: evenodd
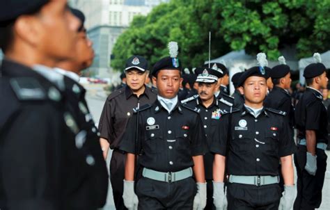
M 217 132 L 217 136 L 214 135 L 212 139 L 212 143 L 210 145 L 210 152 L 215 154 L 221 154 L 222 156 L 226 156 L 227 150 L 227 140 L 230 137 L 229 132 L 229 118 L 230 114 L 222 115 L 219 120 L 219 131 Z

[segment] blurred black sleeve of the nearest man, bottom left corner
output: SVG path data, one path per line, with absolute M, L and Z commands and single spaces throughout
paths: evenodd
M 59 208 L 65 139 L 60 137 L 60 115 L 45 107 L 24 107 L 1 131 L 0 188 L 8 209 Z

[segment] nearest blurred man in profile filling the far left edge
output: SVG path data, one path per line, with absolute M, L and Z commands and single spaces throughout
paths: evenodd
M 70 166 L 95 161 L 79 150 L 84 132 L 52 69 L 74 58 L 79 24 L 65 0 L 0 1 L 1 210 L 72 209 Z

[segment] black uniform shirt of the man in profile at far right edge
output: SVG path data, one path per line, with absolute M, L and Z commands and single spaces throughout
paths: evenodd
M 327 109 L 322 104 L 321 92 L 307 87 L 294 111 L 298 138 L 306 138 L 306 130 L 316 132 L 317 143 L 328 143 Z

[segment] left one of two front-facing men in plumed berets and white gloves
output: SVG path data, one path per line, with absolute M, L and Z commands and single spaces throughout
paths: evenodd
M 178 101 L 182 81 L 178 44 L 170 42 L 168 47 L 171 57 L 159 60 L 152 70 L 157 101 L 135 109 L 120 143 L 120 150 L 127 152 L 123 199 L 128 209 L 137 209 L 138 203 L 139 209 L 148 210 L 193 209 L 193 205 L 203 209 L 206 204 L 201 117 L 196 107 Z M 134 154 L 139 154 L 143 168 L 141 179 L 136 180 L 137 197 Z

